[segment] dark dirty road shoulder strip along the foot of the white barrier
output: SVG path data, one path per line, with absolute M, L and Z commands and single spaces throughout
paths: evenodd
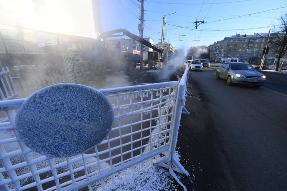
M 193 96 L 186 101 L 190 115 L 181 117 L 177 143 L 181 164 L 190 173 L 190 178 L 183 177 L 182 181 L 188 190 L 232 190 L 205 98 L 196 83 L 190 85 Z

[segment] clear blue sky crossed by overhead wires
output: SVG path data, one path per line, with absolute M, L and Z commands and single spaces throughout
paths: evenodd
M 278 24 L 277 18 L 287 13 L 287 7 L 285 7 L 287 0 L 144 0 L 144 2 L 144 35 L 152 37 L 155 44 L 160 42 L 163 16 L 176 12 L 166 16 L 166 23 L 170 25 L 165 27 L 165 41 L 169 40 L 175 48 L 184 49 L 197 45 L 208 46 L 236 33 L 268 33 L 274 24 Z M 137 0 L 100 0 L 103 32 L 126 28 L 129 32 L 138 35 L 139 6 L 140 2 Z M 285 8 L 271 10 L 279 7 Z M 271 11 L 257 13 L 265 10 Z M 247 14 L 251 15 L 242 16 Z M 229 19 L 236 16 L 241 17 Z M 205 18 L 206 22 L 199 25 L 197 30 L 193 23 L 196 18 L 199 21 Z M 190 27 L 190 25 L 193 26 Z

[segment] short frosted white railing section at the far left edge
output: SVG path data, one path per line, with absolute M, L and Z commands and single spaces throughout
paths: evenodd
M 11 100 L 17 97 L 18 93 L 9 68 L 0 68 L 0 100 Z

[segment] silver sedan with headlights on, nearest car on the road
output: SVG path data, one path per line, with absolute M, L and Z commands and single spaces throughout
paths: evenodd
M 228 85 L 249 84 L 259 88 L 264 84 L 266 76 L 258 72 L 248 63 L 226 62 L 219 66 L 216 71 L 216 78 L 223 78 Z

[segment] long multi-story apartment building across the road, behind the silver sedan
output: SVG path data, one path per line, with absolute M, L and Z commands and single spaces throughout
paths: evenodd
M 272 35 L 272 34 L 271 34 Z M 227 58 L 236 57 L 240 62 L 259 63 L 262 59 L 262 51 L 266 46 L 268 33 L 254 33 L 253 35 L 240 35 L 225 37 L 222 41 L 209 45 L 207 50 L 210 58 L 216 62 L 225 61 Z M 276 52 L 270 48 L 265 57 L 265 63 L 274 63 Z

